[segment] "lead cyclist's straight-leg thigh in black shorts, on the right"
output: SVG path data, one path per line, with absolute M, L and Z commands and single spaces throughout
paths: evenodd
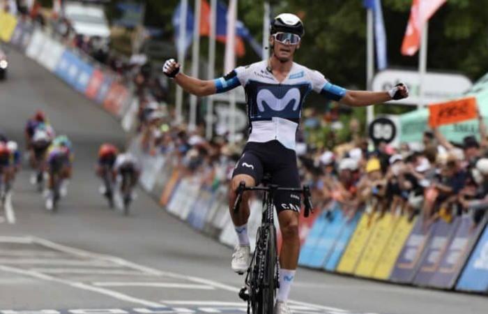
M 296 158 L 292 159 L 283 156 L 283 159 L 288 162 L 271 173 L 271 183 L 283 188 L 300 188 L 300 177 L 298 175 Z M 280 212 L 287 210 L 300 212 L 300 198 L 300 193 L 278 190 L 275 194 L 277 213 L 280 214 Z

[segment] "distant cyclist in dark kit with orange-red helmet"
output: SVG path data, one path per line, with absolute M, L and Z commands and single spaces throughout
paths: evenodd
M 100 187 L 100 193 L 109 197 L 110 200 L 112 200 L 112 186 L 115 181 L 114 164 L 118 154 L 119 149 L 114 144 L 105 143 L 98 149 L 96 172 L 104 183 Z

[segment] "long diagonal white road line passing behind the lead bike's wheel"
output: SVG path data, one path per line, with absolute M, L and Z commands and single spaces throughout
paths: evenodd
M 69 246 L 63 246 L 61 244 L 56 244 L 56 243 L 54 243 L 52 241 L 49 241 L 49 240 L 46 240 L 46 239 L 41 239 L 41 238 L 38 238 L 38 237 L 30 236 L 30 237 L 28 237 L 28 239 L 30 239 L 30 241 L 33 241 L 33 242 L 35 242 L 37 244 L 41 244 L 43 246 L 47 246 L 49 248 L 56 249 L 58 251 L 63 251 L 63 252 L 71 253 L 71 254 L 78 255 L 78 256 L 91 257 L 91 258 L 100 258 L 100 259 L 103 259 L 103 260 L 111 260 L 112 262 L 115 262 L 117 264 L 121 264 L 121 265 L 123 265 L 125 267 L 130 267 L 132 269 L 138 269 L 140 271 L 144 271 L 147 274 L 152 274 L 154 276 L 167 276 L 169 278 L 183 279 L 183 280 L 187 280 L 187 281 L 192 281 L 194 283 L 201 283 L 201 284 L 204 284 L 204 285 L 211 285 L 211 286 L 213 286 L 215 288 L 219 288 L 219 289 L 222 289 L 222 290 L 227 290 L 227 291 L 230 291 L 230 292 L 239 292 L 239 290 L 241 290 L 238 287 L 234 287 L 234 286 L 231 286 L 231 285 L 226 285 L 224 283 L 218 283 L 217 281 L 211 281 L 211 280 L 208 280 L 208 279 L 194 277 L 194 276 L 186 276 L 186 275 L 176 274 L 176 273 L 172 273 L 172 272 L 169 272 L 169 271 L 160 271 L 158 269 L 153 269 L 151 267 L 146 267 L 146 266 L 143 266 L 143 265 L 140 265 L 140 264 L 136 264 L 134 262 L 129 262 L 128 260 L 123 260 L 120 257 L 114 257 L 114 256 L 103 255 L 103 254 L 98 254 L 98 253 L 91 253 L 91 252 L 88 252 L 88 251 L 80 250 L 78 248 L 71 248 Z M 321 306 L 321 305 L 318 305 L 318 304 L 311 304 L 311 303 L 302 302 L 302 301 L 289 300 L 288 303 L 289 304 L 298 305 L 298 306 L 310 306 L 310 308 L 320 309 L 320 310 L 324 310 L 324 311 L 333 311 L 333 312 L 337 312 L 337 313 L 347 313 L 348 312 L 346 310 L 343 310 L 342 308 L 334 308 L 334 307 L 331 307 L 331 306 Z

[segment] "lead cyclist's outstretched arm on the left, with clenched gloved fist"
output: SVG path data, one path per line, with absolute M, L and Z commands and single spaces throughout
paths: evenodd
M 180 85 L 185 91 L 196 96 L 222 93 L 234 89 L 241 84 L 238 80 L 236 70 L 215 80 L 199 80 L 195 77 L 180 73 L 179 70 L 180 65 L 174 59 L 167 60 L 162 68 L 165 75 L 173 78 L 176 84 Z

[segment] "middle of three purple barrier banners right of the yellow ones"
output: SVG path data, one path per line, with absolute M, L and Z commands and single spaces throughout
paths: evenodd
M 425 247 L 424 253 L 422 253 L 417 274 L 415 274 L 413 279 L 415 285 L 427 285 L 430 278 L 436 273 L 441 257 L 447 250 L 458 223 L 459 218 L 456 217 L 452 223 L 446 223 L 445 220 L 439 219 L 432 225 L 429 242 Z

